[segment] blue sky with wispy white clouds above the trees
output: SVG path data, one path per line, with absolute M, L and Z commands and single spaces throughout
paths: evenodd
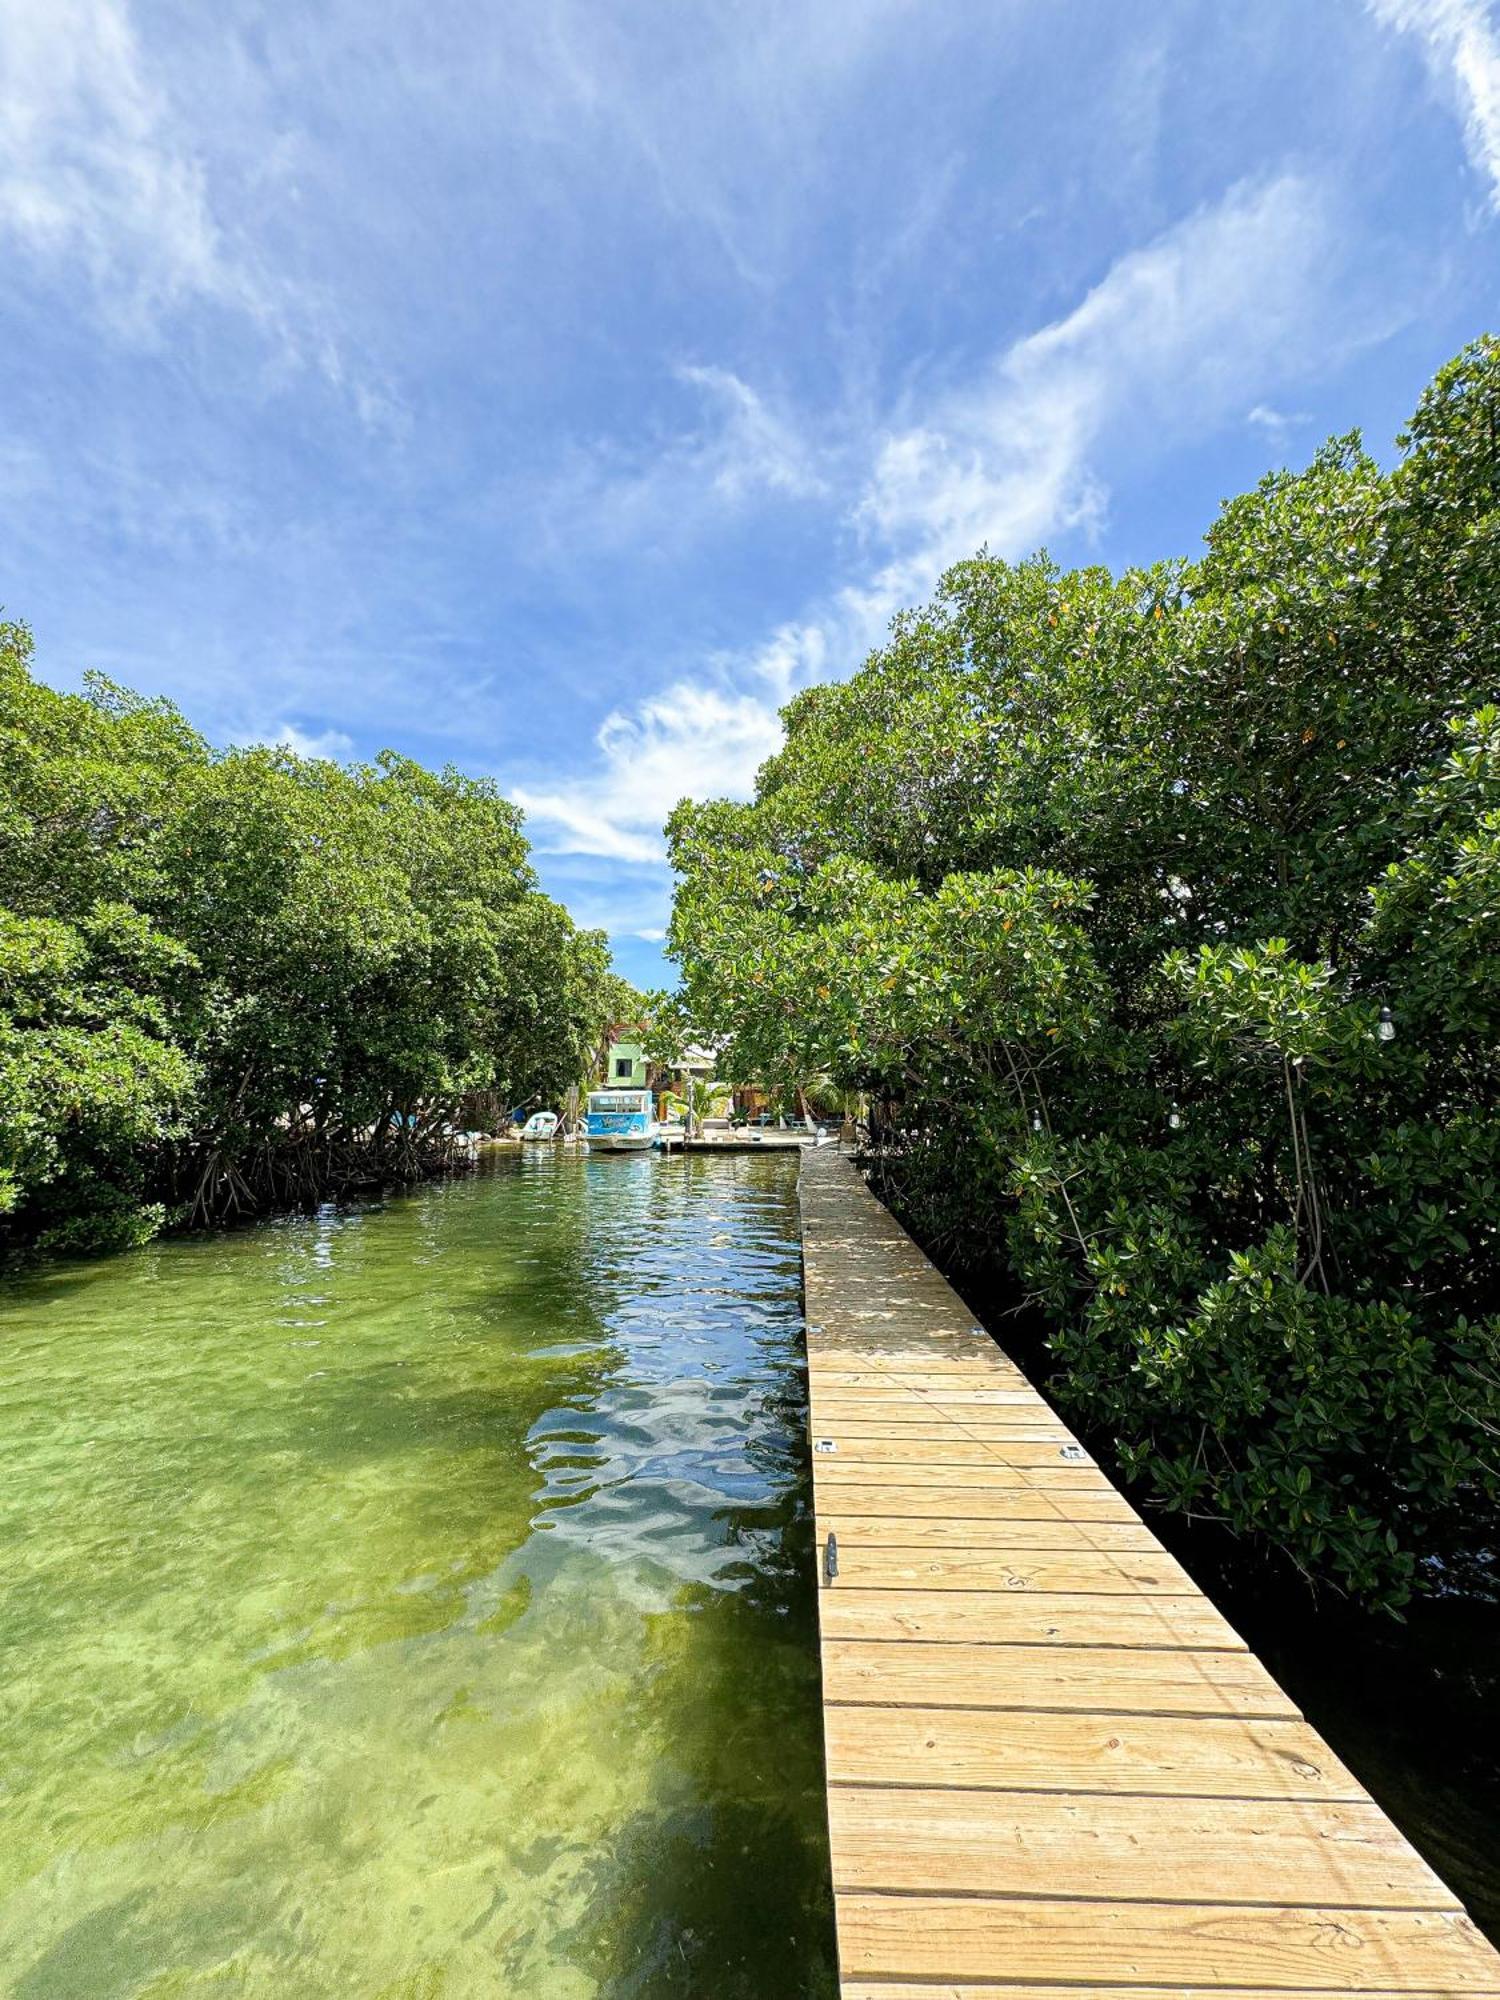
M 1388 452 L 1498 276 L 1488 0 L 0 0 L 0 604 L 494 774 L 660 982 L 788 694 Z

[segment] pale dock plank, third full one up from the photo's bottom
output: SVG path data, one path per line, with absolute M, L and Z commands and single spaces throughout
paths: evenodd
M 840 1708 L 824 1716 L 834 1784 L 1358 1800 L 1306 1722 L 1056 1716 L 986 1708 Z

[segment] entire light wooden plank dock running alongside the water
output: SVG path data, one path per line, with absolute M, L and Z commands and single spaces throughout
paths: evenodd
M 830 1148 L 802 1228 L 844 2000 L 1500 1996 L 1454 1894 Z

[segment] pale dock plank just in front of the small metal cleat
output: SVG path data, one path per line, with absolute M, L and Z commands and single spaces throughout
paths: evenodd
M 840 1558 L 842 1560 L 842 1558 Z M 850 1590 L 822 1594 L 824 1638 L 966 1640 L 998 1646 L 1202 1646 L 1244 1640 L 1200 1596 L 1110 1598 L 1028 1590 Z

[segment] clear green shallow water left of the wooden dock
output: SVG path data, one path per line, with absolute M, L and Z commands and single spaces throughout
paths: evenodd
M 0 1992 L 832 1994 L 794 1168 L 0 1288 Z

